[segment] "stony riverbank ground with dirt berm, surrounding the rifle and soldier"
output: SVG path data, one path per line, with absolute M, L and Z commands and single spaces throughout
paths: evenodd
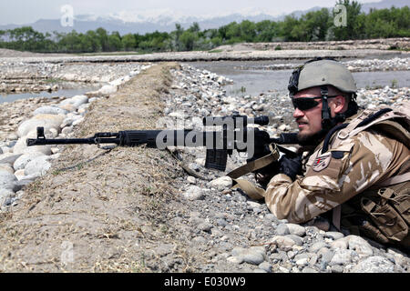
M 85 137 L 237 111 L 276 116 L 264 128 L 271 135 L 295 128 L 282 93 L 226 95 L 231 80 L 189 65 L 123 64 L 109 76 L 84 96 L 0 104 L 1 270 L 408 273 L 408 255 L 393 247 L 324 219 L 297 226 L 272 216 L 204 168 L 201 148 L 179 149 L 189 175 L 156 149 L 25 146 L 39 124 L 47 136 Z M 407 87 L 358 92 L 359 105 L 370 107 L 409 98 Z M 231 156 L 227 171 L 245 158 Z

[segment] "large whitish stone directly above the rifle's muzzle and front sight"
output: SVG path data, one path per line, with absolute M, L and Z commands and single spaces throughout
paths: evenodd
M 59 126 L 63 122 L 65 115 L 47 115 L 47 114 L 39 114 L 33 116 L 30 119 L 24 121 L 21 125 L 18 126 L 17 135 L 19 137 L 27 135 L 33 129 L 36 129 L 38 126 L 43 126 L 45 129 L 45 133 L 50 128 L 55 128 L 57 131 L 59 130 Z

